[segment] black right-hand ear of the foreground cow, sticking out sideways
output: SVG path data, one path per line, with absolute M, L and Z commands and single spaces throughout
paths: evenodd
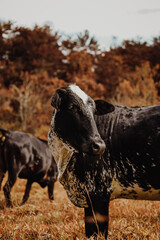
M 104 115 L 110 112 L 113 112 L 115 107 L 104 100 L 95 100 L 96 104 L 96 115 Z

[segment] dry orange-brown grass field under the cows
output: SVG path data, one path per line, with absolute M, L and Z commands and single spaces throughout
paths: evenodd
M 11 209 L 6 208 L 3 191 L 0 192 L 0 239 L 86 239 L 83 209 L 73 206 L 59 182 L 55 185 L 53 202 L 48 199 L 47 189 L 34 183 L 29 200 L 20 206 L 25 184 L 25 180 L 18 179 L 14 185 Z M 159 240 L 160 202 L 112 201 L 108 239 Z

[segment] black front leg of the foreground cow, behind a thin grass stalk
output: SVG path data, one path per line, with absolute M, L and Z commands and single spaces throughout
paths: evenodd
M 86 236 L 103 235 L 107 239 L 109 220 L 109 198 L 105 201 L 92 198 L 89 207 L 85 208 L 85 230 Z

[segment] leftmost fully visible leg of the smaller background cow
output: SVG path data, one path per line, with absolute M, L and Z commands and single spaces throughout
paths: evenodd
M 13 185 L 16 182 L 16 179 L 17 179 L 17 174 L 14 172 L 10 173 L 10 171 L 9 171 L 8 172 L 8 180 L 3 187 L 7 207 L 12 207 L 10 192 L 11 192 Z

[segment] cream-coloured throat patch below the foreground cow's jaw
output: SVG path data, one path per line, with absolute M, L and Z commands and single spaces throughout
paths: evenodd
M 52 116 L 51 127 L 48 134 L 48 145 L 50 151 L 57 163 L 58 179 L 60 179 L 73 155 L 75 149 L 67 143 L 64 143 L 54 131 L 56 110 Z

